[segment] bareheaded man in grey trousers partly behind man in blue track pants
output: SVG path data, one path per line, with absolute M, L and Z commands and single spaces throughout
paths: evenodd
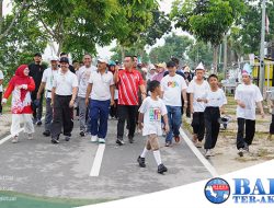
M 84 137 L 85 135 L 85 114 L 87 114 L 87 105 L 85 105 L 85 93 L 88 88 L 88 81 L 90 79 L 90 74 L 92 71 L 96 71 L 96 68 L 91 65 L 92 57 L 87 54 L 83 56 L 83 63 L 78 72 L 77 78 L 79 82 L 79 91 L 78 91 L 78 107 L 79 107 L 79 120 L 80 120 L 80 136 Z

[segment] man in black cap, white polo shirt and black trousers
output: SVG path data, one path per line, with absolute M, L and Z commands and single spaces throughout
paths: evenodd
M 54 106 L 53 143 L 59 143 L 61 127 L 65 140 L 70 140 L 73 128 L 73 105 L 78 91 L 77 76 L 69 70 L 67 57 L 60 58 L 60 72 L 56 74 L 52 90 L 52 105 Z

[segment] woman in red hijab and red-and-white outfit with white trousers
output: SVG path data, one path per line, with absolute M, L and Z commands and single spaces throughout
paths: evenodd
M 21 65 L 15 76 L 9 82 L 9 85 L 4 92 L 2 103 L 5 104 L 9 96 L 12 94 L 11 101 L 11 135 L 13 135 L 12 142 L 19 141 L 19 129 L 20 124 L 24 124 L 24 132 L 28 135 L 28 139 L 33 139 L 32 134 L 34 132 L 32 122 L 32 107 L 31 107 L 31 92 L 35 89 L 33 78 L 28 76 L 27 65 Z

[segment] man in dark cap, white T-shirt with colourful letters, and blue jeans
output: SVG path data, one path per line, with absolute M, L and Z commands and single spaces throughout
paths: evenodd
M 161 80 L 162 99 L 168 109 L 170 131 L 165 137 L 165 147 L 170 147 L 172 143 L 172 137 L 174 136 L 175 142 L 180 141 L 180 127 L 182 124 L 182 94 L 184 101 L 186 100 L 186 83 L 182 76 L 176 74 L 176 65 L 173 61 L 167 65 L 169 74 Z M 184 107 L 187 106 L 187 102 L 184 103 Z

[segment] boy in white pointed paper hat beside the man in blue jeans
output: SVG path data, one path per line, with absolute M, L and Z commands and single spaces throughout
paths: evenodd
M 195 70 L 195 78 L 191 81 L 187 93 L 190 93 L 192 127 L 193 127 L 193 142 L 197 148 L 202 148 L 202 141 L 205 135 L 205 99 L 206 92 L 209 90 L 209 84 L 204 80 L 205 68 L 201 62 Z

